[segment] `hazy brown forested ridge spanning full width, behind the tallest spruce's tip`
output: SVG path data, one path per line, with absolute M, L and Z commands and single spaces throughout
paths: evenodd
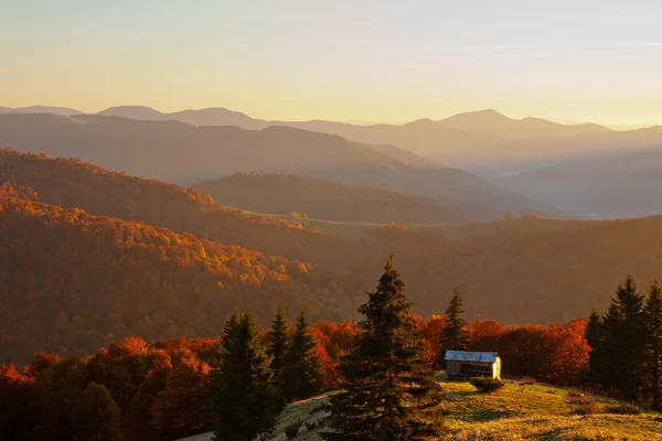
M 511 219 L 447 226 L 441 232 L 363 225 L 372 228 L 372 238 L 342 238 L 218 206 L 200 192 L 75 160 L 12 152 L 0 159 L 0 180 L 8 183 L 4 186 L 13 185 L 13 197 L 22 194 L 95 216 L 142 222 L 173 234 L 189 233 L 201 240 L 307 262 L 319 271 L 316 280 L 332 287 L 337 295 L 361 295 L 373 287 L 381 261 L 393 251 L 415 311 L 423 314 L 444 311 L 447 297 L 458 287 L 469 318 L 567 322 L 607 304 L 627 273 L 642 284 L 661 277 L 660 216 L 605 222 Z M 351 316 L 355 305 L 343 313 Z

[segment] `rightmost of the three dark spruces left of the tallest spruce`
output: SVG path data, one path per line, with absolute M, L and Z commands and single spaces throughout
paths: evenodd
M 323 365 L 318 342 L 301 312 L 285 356 L 280 381 L 288 401 L 309 398 L 324 386 Z

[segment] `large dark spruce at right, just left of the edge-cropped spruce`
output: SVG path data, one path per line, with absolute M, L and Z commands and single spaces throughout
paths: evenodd
M 637 400 L 645 355 L 645 321 L 643 295 L 637 292 L 630 276 L 618 286 L 616 298 L 602 318 L 602 329 L 605 340 L 599 354 L 605 369 L 602 384 L 619 389 L 627 400 Z

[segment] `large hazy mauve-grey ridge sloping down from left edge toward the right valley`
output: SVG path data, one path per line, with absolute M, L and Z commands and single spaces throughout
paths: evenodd
M 458 213 L 461 217 L 476 218 L 477 213 L 494 217 L 505 212 L 566 215 L 393 146 L 365 144 L 282 126 L 245 130 L 98 115 L 6 114 L 0 115 L 0 146 L 77 158 L 185 185 L 237 172 L 280 172 L 383 184 L 455 205 L 462 211 Z

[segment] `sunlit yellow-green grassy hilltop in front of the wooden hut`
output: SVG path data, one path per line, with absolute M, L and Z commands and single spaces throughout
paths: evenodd
M 444 381 L 442 375 L 439 379 L 447 398 L 445 440 L 662 440 L 661 413 L 616 415 L 613 409 L 621 405 L 608 398 L 526 381 L 508 381 L 485 395 L 469 383 Z M 273 440 L 287 440 L 285 427 L 298 419 L 318 422 L 324 413 L 314 409 L 324 399 L 290 405 Z M 318 441 L 318 431 L 302 426 L 296 440 Z

